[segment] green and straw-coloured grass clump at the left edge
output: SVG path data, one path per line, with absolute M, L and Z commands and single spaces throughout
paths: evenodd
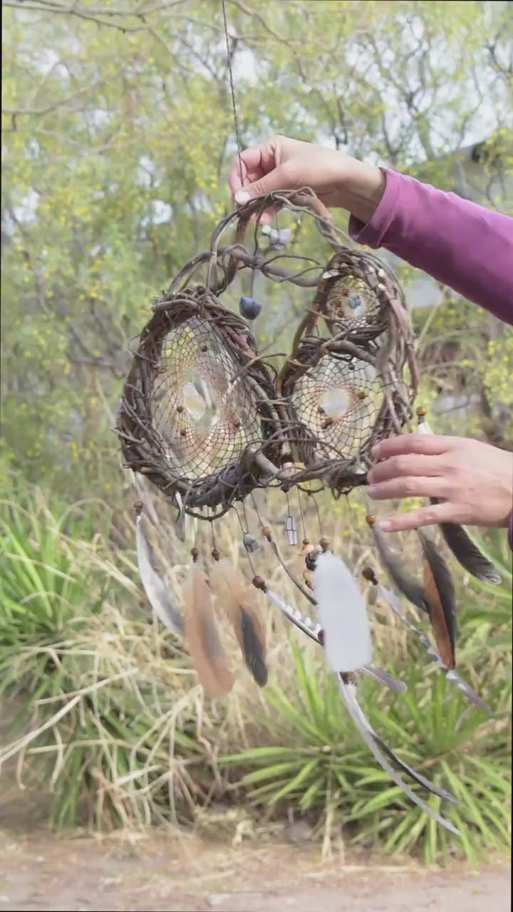
M 55 519 L 40 494 L 1 506 L 0 701 L 16 701 L 18 732 L 0 765 L 21 758 L 33 786 L 49 784 L 58 827 L 190 817 L 208 780 L 177 692 L 183 658 L 175 648 L 159 671 L 159 638 L 137 610 L 120 615 L 137 589 L 106 572 L 98 511 Z

